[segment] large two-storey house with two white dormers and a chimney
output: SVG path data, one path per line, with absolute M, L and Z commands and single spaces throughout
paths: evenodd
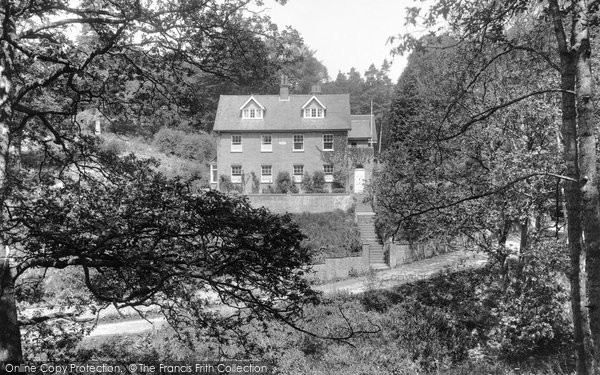
M 281 171 L 298 186 L 304 174 L 322 171 L 327 189 L 335 182 L 362 191 L 365 165 L 349 166 L 348 150 L 369 149 L 372 161 L 377 142 L 372 116 L 351 115 L 348 94 L 292 95 L 285 77 L 279 95 L 221 95 L 213 131 L 217 160 L 211 165 L 211 186 L 219 188 L 221 176 L 227 176 L 245 192 L 252 179 L 263 191 Z

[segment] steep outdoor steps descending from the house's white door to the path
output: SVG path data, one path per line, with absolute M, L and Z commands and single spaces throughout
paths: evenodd
M 388 268 L 385 262 L 383 245 L 375 234 L 375 213 L 368 203 L 363 203 L 363 196 L 357 196 L 356 221 L 360 230 L 360 240 L 363 245 L 369 245 L 369 264 L 373 269 Z

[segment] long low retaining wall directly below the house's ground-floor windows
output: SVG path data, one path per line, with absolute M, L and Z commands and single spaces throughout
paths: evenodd
M 350 194 L 248 194 L 254 207 L 266 207 L 275 213 L 347 211 L 354 205 Z

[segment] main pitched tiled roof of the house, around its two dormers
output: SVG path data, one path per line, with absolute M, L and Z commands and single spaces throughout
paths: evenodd
M 265 107 L 262 119 L 243 119 L 240 108 L 250 95 L 221 95 L 215 118 L 215 131 L 308 131 L 350 130 L 350 96 L 316 95 L 327 108 L 325 118 L 303 118 L 301 108 L 313 95 L 253 95 Z

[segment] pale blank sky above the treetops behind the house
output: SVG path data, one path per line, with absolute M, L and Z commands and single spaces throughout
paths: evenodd
M 406 56 L 392 56 L 390 36 L 416 32 L 404 26 L 405 8 L 413 0 L 288 0 L 282 6 L 265 1 L 265 13 L 280 27 L 290 25 L 316 50 L 315 57 L 326 67 L 330 79 L 355 67 L 361 75 L 384 59 L 392 63 L 389 77 L 398 80 Z

